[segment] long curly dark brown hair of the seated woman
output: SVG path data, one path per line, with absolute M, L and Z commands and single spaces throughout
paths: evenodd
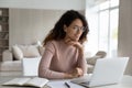
M 50 33 L 43 41 L 43 45 L 45 45 L 48 41 L 52 41 L 52 40 L 56 40 L 56 41 L 63 40 L 66 35 L 66 32 L 64 32 L 64 25 L 69 26 L 70 23 L 75 21 L 76 19 L 80 19 L 82 22 L 82 25 L 85 26 L 85 32 L 81 34 L 79 38 L 79 42 L 84 43 L 87 40 L 87 34 L 89 32 L 86 18 L 82 14 L 80 14 L 78 11 L 68 10 L 56 22 L 53 30 L 50 31 Z

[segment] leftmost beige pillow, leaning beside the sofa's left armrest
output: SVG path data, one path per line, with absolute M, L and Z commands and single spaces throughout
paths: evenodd
M 15 59 L 22 59 L 23 58 L 23 53 L 18 47 L 18 45 L 12 46 L 12 52 L 13 52 L 13 56 L 14 56 Z

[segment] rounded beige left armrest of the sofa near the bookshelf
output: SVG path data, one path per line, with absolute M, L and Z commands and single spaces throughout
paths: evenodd
M 13 55 L 9 50 L 3 51 L 2 53 L 2 62 L 7 62 L 7 61 L 13 61 Z

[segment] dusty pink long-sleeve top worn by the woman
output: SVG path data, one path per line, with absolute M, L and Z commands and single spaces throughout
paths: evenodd
M 79 56 L 79 50 L 66 44 L 64 41 L 51 41 L 46 43 L 42 56 L 38 75 L 50 79 L 64 78 L 65 73 L 70 73 L 76 67 L 87 72 L 86 59 Z

